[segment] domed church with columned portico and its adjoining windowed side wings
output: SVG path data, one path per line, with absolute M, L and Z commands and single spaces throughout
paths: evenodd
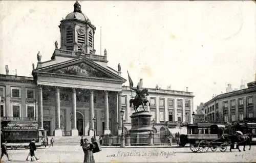
M 60 47 L 55 42 L 51 60 L 42 62 L 37 53 L 33 77 L 0 74 L 1 123 L 47 130 L 48 135 L 120 134 L 123 109 L 124 126 L 131 126 L 133 107 L 126 79 L 108 66 L 107 51 L 96 55 L 95 26 L 81 12 L 74 11 L 60 21 Z M 166 122 L 191 123 L 193 93 L 149 89 L 146 106 L 158 125 Z M 135 92 L 133 92 L 135 95 Z M 176 105 L 177 104 L 177 105 Z

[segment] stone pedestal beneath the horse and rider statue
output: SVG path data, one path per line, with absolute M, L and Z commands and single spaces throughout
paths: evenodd
M 131 143 L 148 143 L 148 135 L 150 132 L 153 132 L 151 116 L 148 111 L 136 112 L 130 116 L 132 119 L 132 128 L 130 130 Z

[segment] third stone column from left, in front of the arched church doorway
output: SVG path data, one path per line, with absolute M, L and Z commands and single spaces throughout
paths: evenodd
M 78 130 L 76 128 L 76 89 L 72 88 L 72 136 L 78 136 Z

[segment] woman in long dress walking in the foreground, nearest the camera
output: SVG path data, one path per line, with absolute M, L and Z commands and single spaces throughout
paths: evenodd
M 82 145 L 82 150 L 84 153 L 83 163 L 95 163 L 93 157 L 93 149 L 95 145 L 88 142 L 88 139 L 84 139 L 84 144 Z

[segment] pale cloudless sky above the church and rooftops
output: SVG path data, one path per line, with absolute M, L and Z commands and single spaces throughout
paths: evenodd
M 227 84 L 239 88 L 256 72 L 253 1 L 78 1 L 96 26 L 96 54 L 127 70 L 143 87 L 193 92 L 194 110 Z M 1 1 L 0 74 L 32 76 L 32 63 L 51 59 L 58 25 L 75 1 Z M 100 52 L 100 27 L 101 49 Z M 129 85 L 128 82 L 125 83 Z

